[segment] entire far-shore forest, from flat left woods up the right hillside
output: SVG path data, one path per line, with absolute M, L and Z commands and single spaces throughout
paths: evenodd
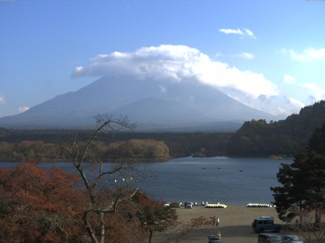
M 307 151 L 308 138 L 325 123 L 325 101 L 305 106 L 285 120 L 246 121 L 235 133 L 139 133 L 100 134 L 94 141 L 106 161 L 165 161 L 197 156 L 292 156 Z M 0 128 L 0 159 L 5 161 L 62 161 L 68 155 L 44 147 L 66 143 L 78 134 L 85 141 L 92 130 L 13 130 Z

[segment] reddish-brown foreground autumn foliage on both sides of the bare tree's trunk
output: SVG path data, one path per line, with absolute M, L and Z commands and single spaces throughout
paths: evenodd
M 57 168 L 39 169 L 35 164 L 0 169 L 0 242 L 90 242 L 82 221 L 88 205 L 89 198 L 75 175 Z M 95 214 L 89 218 L 95 225 Z M 104 219 L 107 243 L 148 238 L 137 207 L 129 201 Z

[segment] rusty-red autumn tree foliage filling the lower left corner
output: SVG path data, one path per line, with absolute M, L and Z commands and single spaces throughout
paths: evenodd
M 77 177 L 26 164 L 1 169 L 0 178 L 1 242 L 73 242 L 81 233 Z

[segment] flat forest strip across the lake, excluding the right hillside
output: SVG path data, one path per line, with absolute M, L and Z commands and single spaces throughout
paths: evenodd
M 85 141 L 91 130 L 12 130 L 0 129 L 0 159 L 5 161 L 62 161 L 64 153 L 43 148 L 53 143 L 71 141 L 74 134 Z M 143 159 L 165 161 L 172 157 L 190 156 L 204 148 L 204 156 L 226 154 L 230 133 L 107 133 L 94 144 L 105 160 Z M 150 145 L 151 143 L 151 145 Z M 145 146 L 146 148 L 142 147 Z M 123 158 L 123 159 L 121 159 Z M 129 159 L 128 159 L 129 158 Z

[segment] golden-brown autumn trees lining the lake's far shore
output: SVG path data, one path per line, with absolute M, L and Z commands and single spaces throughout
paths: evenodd
M 78 141 L 80 148 L 85 145 L 84 141 Z M 91 149 L 96 151 L 103 161 L 146 162 L 164 161 L 170 158 L 168 146 L 162 141 L 151 139 L 131 139 L 110 144 L 103 141 L 92 141 Z M 0 159 L 25 163 L 72 160 L 66 151 L 57 151 L 52 143 L 43 141 L 0 142 Z

